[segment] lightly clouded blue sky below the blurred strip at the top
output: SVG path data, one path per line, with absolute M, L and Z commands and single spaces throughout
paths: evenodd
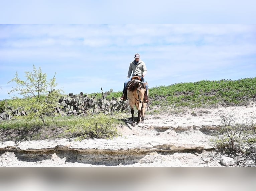
M 255 31 L 254 25 L 0 25 L 0 80 L 4 85 L 6 74 L 35 64 L 56 72 L 67 91 L 85 84 L 89 92 L 118 91 L 135 53 L 151 87 L 221 78 L 223 70 L 243 77 L 255 69 Z

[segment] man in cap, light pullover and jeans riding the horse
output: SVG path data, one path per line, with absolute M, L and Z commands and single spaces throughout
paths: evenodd
M 127 95 L 126 95 L 126 87 L 128 82 L 131 81 L 133 76 L 141 76 L 144 79 L 144 76 L 147 74 L 147 68 L 145 63 L 140 60 L 140 55 L 137 53 L 134 55 L 134 61 L 132 61 L 130 63 L 129 66 L 129 70 L 128 70 L 128 75 L 127 75 L 127 80 L 124 82 L 124 89 L 123 89 L 123 95 L 122 97 L 120 97 L 121 100 L 126 100 L 127 99 Z M 131 77 L 132 74 L 132 77 Z M 148 103 L 148 97 L 147 97 L 147 90 L 148 90 L 148 86 L 146 86 L 146 93 L 144 95 L 144 102 Z

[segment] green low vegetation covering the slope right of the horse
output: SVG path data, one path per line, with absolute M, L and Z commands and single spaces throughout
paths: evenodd
M 199 81 L 150 89 L 152 104 L 159 106 L 247 105 L 256 98 L 256 78 Z

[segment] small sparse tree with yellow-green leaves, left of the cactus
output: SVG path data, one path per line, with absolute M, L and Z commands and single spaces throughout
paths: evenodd
M 37 70 L 33 66 L 32 72 L 25 72 L 26 81 L 21 80 L 16 73 L 15 77 L 8 83 L 15 82 L 17 86 L 12 88 L 9 95 L 13 92 L 18 92 L 26 99 L 26 104 L 21 105 L 22 100 L 13 97 L 13 104 L 23 106 L 26 111 L 27 119 L 31 120 L 34 117 L 39 117 L 44 122 L 45 115 L 51 115 L 55 110 L 61 90 L 55 90 L 55 75 L 50 81 L 47 81 L 47 75 L 43 74 L 41 68 Z

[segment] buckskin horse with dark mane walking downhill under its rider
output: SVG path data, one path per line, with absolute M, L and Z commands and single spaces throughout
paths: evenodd
M 137 78 L 132 78 L 132 80 L 127 84 L 127 98 L 129 100 L 129 105 L 131 107 L 131 114 L 132 114 L 132 126 L 135 126 L 134 121 L 134 105 L 138 109 L 138 117 L 136 122 L 144 122 L 144 115 L 145 115 L 145 108 L 146 103 L 144 103 L 144 94 L 146 92 L 146 83 L 138 80 Z

